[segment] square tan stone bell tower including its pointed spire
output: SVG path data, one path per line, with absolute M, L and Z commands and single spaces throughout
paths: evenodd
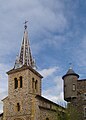
M 42 76 L 35 69 L 28 40 L 27 21 L 19 56 L 8 74 L 8 96 L 3 100 L 4 120 L 34 120 L 35 96 L 41 95 Z

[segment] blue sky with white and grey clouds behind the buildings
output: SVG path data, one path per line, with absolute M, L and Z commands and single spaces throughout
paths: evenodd
M 86 0 L 0 0 L 0 112 L 25 20 L 44 97 L 64 106 L 62 76 L 69 63 L 79 79 L 86 78 Z

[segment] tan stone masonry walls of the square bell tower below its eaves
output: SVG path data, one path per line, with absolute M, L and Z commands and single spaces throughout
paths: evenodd
M 22 76 L 22 88 L 14 88 L 14 78 L 19 79 Z M 33 91 L 32 78 L 38 80 L 37 91 Z M 24 120 L 33 119 L 33 103 L 36 94 L 41 94 L 41 79 L 30 70 L 24 70 L 10 74 L 8 77 L 8 97 L 4 102 L 4 120 L 14 120 L 23 118 Z M 20 111 L 17 110 L 17 103 L 20 105 Z M 35 104 L 35 103 L 34 103 Z

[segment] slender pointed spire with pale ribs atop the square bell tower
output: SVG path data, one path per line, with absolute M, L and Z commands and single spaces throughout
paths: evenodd
M 27 25 L 26 25 L 27 22 L 28 21 L 25 21 L 24 23 L 25 24 L 24 36 L 23 36 L 23 41 L 22 41 L 20 55 L 19 55 L 19 64 L 20 66 L 27 65 L 27 66 L 34 67 L 34 60 L 32 58 L 30 44 L 28 40 L 28 32 L 27 32 Z

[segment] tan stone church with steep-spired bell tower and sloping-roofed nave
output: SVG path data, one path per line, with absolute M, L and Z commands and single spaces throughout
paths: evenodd
M 43 76 L 32 57 L 25 22 L 19 56 L 8 74 L 8 96 L 3 101 L 0 120 L 59 120 L 65 108 L 41 95 Z

